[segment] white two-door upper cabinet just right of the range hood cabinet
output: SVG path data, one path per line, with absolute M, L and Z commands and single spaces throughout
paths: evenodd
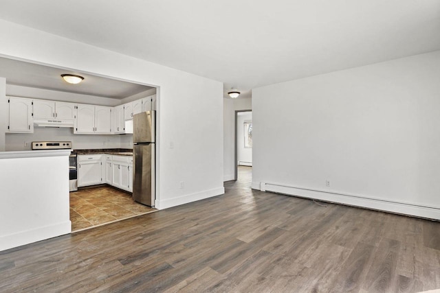
M 78 104 L 74 133 L 111 133 L 111 107 Z

